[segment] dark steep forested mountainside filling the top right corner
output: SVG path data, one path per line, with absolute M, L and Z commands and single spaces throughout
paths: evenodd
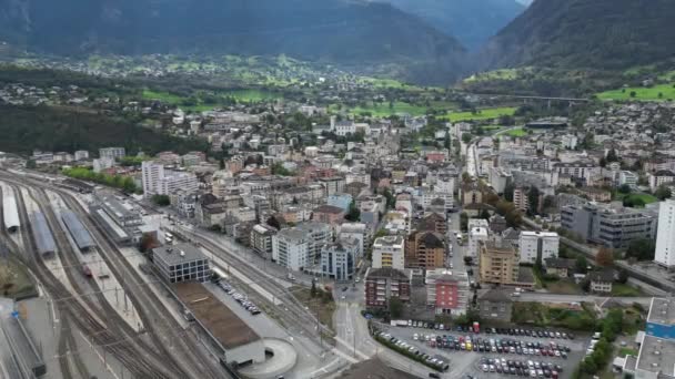
M 481 52 L 487 69 L 621 70 L 671 59 L 673 0 L 535 0 Z

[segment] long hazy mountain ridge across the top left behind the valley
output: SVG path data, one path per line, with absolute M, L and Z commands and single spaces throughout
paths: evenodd
M 464 48 L 390 4 L 347 0 L 0 0 L 0 39 L 59 54 L 280 54 L 443 65 Z

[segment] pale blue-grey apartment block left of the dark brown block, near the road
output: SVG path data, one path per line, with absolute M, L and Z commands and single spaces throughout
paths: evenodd
M 356 268 L 357 240 L 339 240 L 321 249 L 321 273 L 338 281 L 351 280 Z

